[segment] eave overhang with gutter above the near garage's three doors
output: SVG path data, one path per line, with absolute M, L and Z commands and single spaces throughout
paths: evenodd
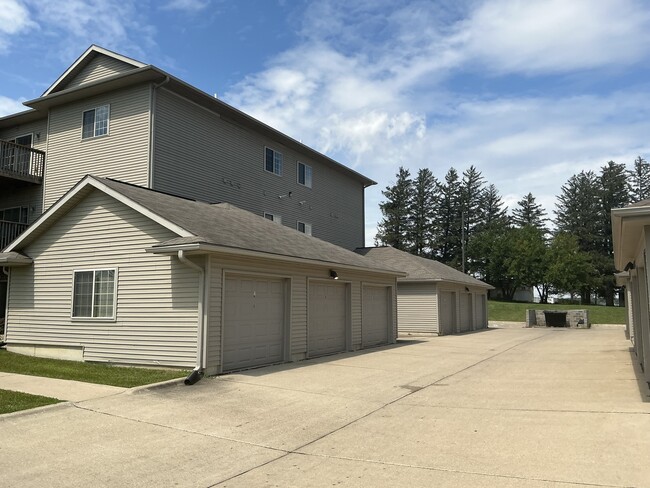
M 163 243 L 163 244 L 149 247 L 145 249 L 145 251 L 154 254 L 176 254 L 178 251 L 185 251 L 188 254 L 219 253 L 219 254 L 228 254 L 231 256 L 272 259 L 275 261 L 283 261 L 283 262 L 294 263 L 294 264 L 308 264 L 308 265 L 322 266 L 328 268 L 360 271 L 364 273 L 383 274 L 383 275 L 390 275 L 396 278 L 399 278 L 401 276 L 406 276 L 406 273 L 402 271 L 380 269 L 380 268 L 374 268 L 372 266 L 369 267 L 354 266 L 350 264 L 337 263 L 333 261 L 321 261 L 318 259 L 309 259 L 309 258 L 302 258 L 298 256 L 290 256 L 285 254 L 268 253 L 268 252 L 256 251 L 252 249 L 242 249 L 238 247 L 219 246 L 216 244 L 203 243 L 203 242 L 195 242 L 189 244 L 171 244 L 171 245 L 165 245 Z

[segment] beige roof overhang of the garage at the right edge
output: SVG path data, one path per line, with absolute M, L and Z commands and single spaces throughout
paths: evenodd
M 650 226 L 650 206 L 612 210 L 614 266 L 617 270 L 623 270 L 627 263 L 635 261 L 641 251 L 646 226 Z

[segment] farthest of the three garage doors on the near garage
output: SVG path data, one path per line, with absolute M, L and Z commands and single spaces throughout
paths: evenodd
M 389 342 L 390 288 L 364 286 L 361 309 L 361 346 Z

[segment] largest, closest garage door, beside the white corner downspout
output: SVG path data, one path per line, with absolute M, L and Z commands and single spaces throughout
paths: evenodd
M 254 276 L 226 277 L 224 371 L 283 360 L 284 289 L 282 280 Z

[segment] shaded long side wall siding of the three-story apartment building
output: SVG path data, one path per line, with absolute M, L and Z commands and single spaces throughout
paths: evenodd
M 282 153 L 282 176 L 264 170 L 265 147 Z M 312 167 L 312 188 L 298 184 L 298 161 Z M 364 245 L 361 182 L 164 89 L 156 92 L 152 182 L 176 195 L 277 214 L 294 229 L 309 223 L 314 237 L 347 249 Z

